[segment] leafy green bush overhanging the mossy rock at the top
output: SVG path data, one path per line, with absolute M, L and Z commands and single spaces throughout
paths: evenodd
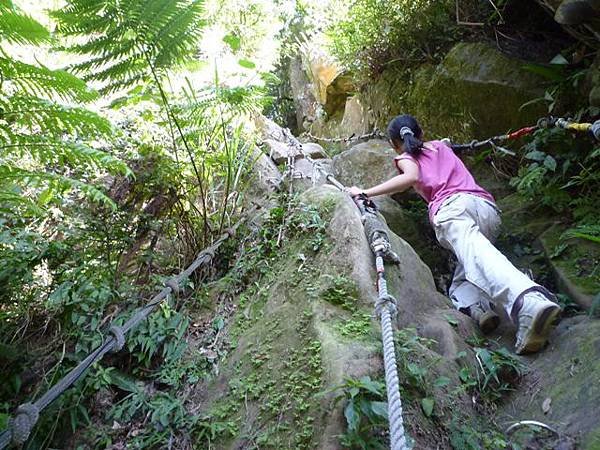
M 330 25 L 331 50 L 363 77 L 380 73 L 393 60 L 437 59 L 454 37 L 453 5 L 448 0 L 357 0 L 346 19 Z

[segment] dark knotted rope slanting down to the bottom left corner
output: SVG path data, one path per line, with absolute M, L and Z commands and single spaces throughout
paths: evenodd
M 24 444 L 29 439 L 29 435 L 37 423 L 40 413 L 81 378 L 92 364 L 101 360 L 109 352 L 118 352 L 121 350 L 125 345 L 125 335 L 142 320 L 146 319 L 169 294 L 177 294 L 180 290 L 181 282 L 187 279 L 196 269 L 209 263 L 214 258 L 215 251 L 225 240 L 235 234 L 236 229 L 242 222 L 240 221 L 232 228 L 229 228 L 212 246 L 202 250 L 187 269 L 167 281 L 165 287 L 148 304 L 136 310 L 123 325 L 119 326 L 112 323 L 104 342 L 65 375 L 65 377 L 58 381 L 58 383 L 46 391 L 38 400 L 33 403 L 20 405 L 15 411 L 15 416 L 9 419 L 8 428 L 0 433 L 0 449 L 6 448 L 11 443 L 15 445 Z

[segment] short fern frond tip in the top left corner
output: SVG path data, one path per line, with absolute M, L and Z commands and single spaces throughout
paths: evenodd
M 11 1 L 0 2 L 0 42 L 36 45 L 51 41 L 50 32 L 41 23 L 21 13 Z

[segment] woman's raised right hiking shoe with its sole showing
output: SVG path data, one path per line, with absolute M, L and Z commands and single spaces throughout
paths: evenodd
M 542 349 L 548 340 L 552 322 L 560 313 L 560 306 L 548 300 L 540 292 L 523 296 L 523 305 L 518 313 L 517 342 L 515 353 L 534 353 Z

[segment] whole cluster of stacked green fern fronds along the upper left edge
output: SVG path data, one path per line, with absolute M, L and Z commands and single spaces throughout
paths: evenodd
M 87 182 L 100 171 L 129 173 L 122 161 L 92 145 L 109 141 L 114 131 L 83 106 L 97 94 L 66 71 L 11 56 L 10 44 L 52 42 L 49 31 L 11 1 L 0 3 L 0 35 L 0 210 L 43 216 L 71 190 L 113 205 Z

